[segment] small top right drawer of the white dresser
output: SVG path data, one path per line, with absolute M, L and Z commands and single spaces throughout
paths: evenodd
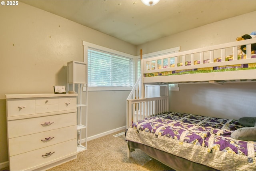
M 76 97 L 59 97 L 59 111 L 76 109 Z

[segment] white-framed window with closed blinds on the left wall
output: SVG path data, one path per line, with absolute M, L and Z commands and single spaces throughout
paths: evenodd
M 84 42 L 88 66 L 88 91 L 131 90 L 135 83 L 136 57 Z

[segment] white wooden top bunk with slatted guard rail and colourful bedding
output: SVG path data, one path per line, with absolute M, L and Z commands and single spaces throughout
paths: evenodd
M 246 46 L 242 52 L 240 47 Z M 141 60 L 142 82 L 256 82 L 256 38 Z M 244 49 L 244 48 L 243 48 Z

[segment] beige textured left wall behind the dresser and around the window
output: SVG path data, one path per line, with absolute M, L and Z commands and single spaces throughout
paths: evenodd
M 136 47 L 22 2 L 18 6 L 0 6 L 0 21 L 0 163 L 3 163 L 8 161 L 5 94 L 54 93 L 54 85 L 65 85 L 67 82 L 67 62 L 84 60 L 82 41 L 132 55 L 136 54 Z M 102 96 L 91 94 L 95 101 L 102 99 Z M 109 123 L 103 124 L 105 130 L 93 132 L 96 115 L 89 116 L 91 127 L 88 136 L 126 125 L 126 94 L 117 91 L 108 95 L 109 103 L 112 99 L 124 99 L 117 108 L 111 106 L 114 111 L 123 110 L 118 112 L 122 119 L 119 116 L 113 125 L 108 127 Z M 99 109 L 100 105 L 94 107 Z M 94 110 L 93 107 L 88 108 L 89 112 Z M 110 111 L 108 107 L 100 109 Z M 108 113 L 98 114 L 97 119 Z

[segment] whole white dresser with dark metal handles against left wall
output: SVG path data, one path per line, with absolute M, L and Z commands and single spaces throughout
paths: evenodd
M 76 158 L 76 98 L 6 95 L 10 170 L 48 169 Z

